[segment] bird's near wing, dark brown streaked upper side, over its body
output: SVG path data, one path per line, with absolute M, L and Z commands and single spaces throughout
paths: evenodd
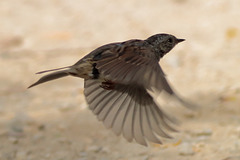
M 154 52 L 141 40 L 114 43 L 93 52 L 96 68 L 108 80 L 138 84 L 173 94 Z

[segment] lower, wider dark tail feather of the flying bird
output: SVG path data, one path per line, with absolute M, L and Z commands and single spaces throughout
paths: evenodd
M 34 87 L 36 85 L 39 85 L 41 83 L 44 82 L 48 82 L 54 79 L 58 79 L 58 78 L 62 78 L 65 76 L 68 76 L 68 71 L 67 70 L 63 70 L 63 71 L 58 71 L 58 72 L 54 72 L 54 73 L 50 73 L 46 76 L 43 76 L 42 78 L 40 78 L 37 82 L 33 83 L 31 86 L 29 86 L 28 88 Z

